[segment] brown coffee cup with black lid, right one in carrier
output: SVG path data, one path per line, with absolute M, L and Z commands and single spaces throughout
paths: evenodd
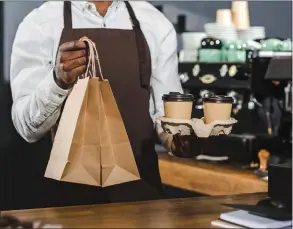
M 228 96 L 211 96 L 203 98 L 204 122 L 229 120 L 231 117 L 233 98 Z

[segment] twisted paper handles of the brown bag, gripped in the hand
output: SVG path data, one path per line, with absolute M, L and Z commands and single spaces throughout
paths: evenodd
M 88 48 L 89 48 L 89 57 L 88 57 L 89 61 L 88 61 L 86 72 L 85 72 L 85 74 L 83 75 L 82 78 L 97 77 L 97 75 L 96 75 L 96 61 L 97 61 L 101 79 L 104 80 L 104 76 L 103 76 L 103 72 L 102 72 L 102 68 L 101 68 L 101 63 L 100 63 L 100 58 L 99 58 L 99 53 L 98 53 L 98 50 L 96 48 L 96 44 L 92 40 L 87 38 L 87 37 L 82 37 L 80 39 L 80 41 L 87 42 L 88 43 Z M 91 67 L 91 69 L 90 69 L 90 67 Z

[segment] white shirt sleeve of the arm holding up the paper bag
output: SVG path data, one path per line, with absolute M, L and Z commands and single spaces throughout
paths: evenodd
M 28 142 L 38 141 L 52 128 L 68 94 L 53 78 L 53 46 L 40 25 L 32 21 L 20 24 L 10 66 L 12 120 Z

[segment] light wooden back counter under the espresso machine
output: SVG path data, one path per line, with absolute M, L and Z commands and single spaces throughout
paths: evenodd
M 267 192 L 268 183 L 252 171 L 230 165 L 199 162 L 159 153 L 164 184 L 206 195 Z

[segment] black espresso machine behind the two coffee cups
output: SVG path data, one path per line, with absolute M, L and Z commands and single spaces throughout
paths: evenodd
M 204 141 L 202 153 L 243 165 L 259 163 L 264 149 L 270 160 L 291 158 L 292 53 L 246 51 L 245 63 L 179 63 L 184 90 L 195 96 L 193 117 L 203 117 L 206 94 L 234 100 L 238 120 L 228 136 Z

